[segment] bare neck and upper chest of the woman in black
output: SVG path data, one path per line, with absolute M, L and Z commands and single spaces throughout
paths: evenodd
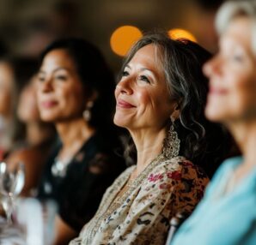
M 62 149 L 58 158 L 72 158 L 94 133 L 95 129 L 89 127 L 83 118 L 73 119 L 70 122 L 58 122 L 56 125 L 58 135 L 62 141 Z

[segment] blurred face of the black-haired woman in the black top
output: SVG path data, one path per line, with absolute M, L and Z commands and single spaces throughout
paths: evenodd
M 82 117 L 85 99 L 82 82 L 69 54 L 50 51 L 43 60 L 38 76 L 40 117 L 46 122 L 62 122 Z

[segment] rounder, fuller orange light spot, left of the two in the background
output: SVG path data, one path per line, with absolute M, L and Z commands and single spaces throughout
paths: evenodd
M 142 36 L 143 33 L 137 27 L 119 27 L 113 32 L 110 38 L 110 45 L 116 54 L 124 57 L 131 49 L 131 46 Z

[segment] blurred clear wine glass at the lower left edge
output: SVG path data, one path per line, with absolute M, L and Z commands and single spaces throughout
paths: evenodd
M 3 210 L 7 224 L 12 224 L 11 215 L 14 210 L 15 199 L 21 193 L 25 183 L 24 164 L 19 162 L 14 170 L 9 170 L 8 164 L 0 163 L 0 193 L 2 194 Z

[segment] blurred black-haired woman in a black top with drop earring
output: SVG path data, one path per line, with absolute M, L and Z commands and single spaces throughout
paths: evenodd
M 113 75 L 100 51 L 83 39 L 56 41 L 42 54 L 40 117 L 55 124 L 61 141 L 39 191 L 41 199 L 58 203 L 55 244 L 77 235 L 106 188 L 125 169 L 112 125 L 113 88 Z

